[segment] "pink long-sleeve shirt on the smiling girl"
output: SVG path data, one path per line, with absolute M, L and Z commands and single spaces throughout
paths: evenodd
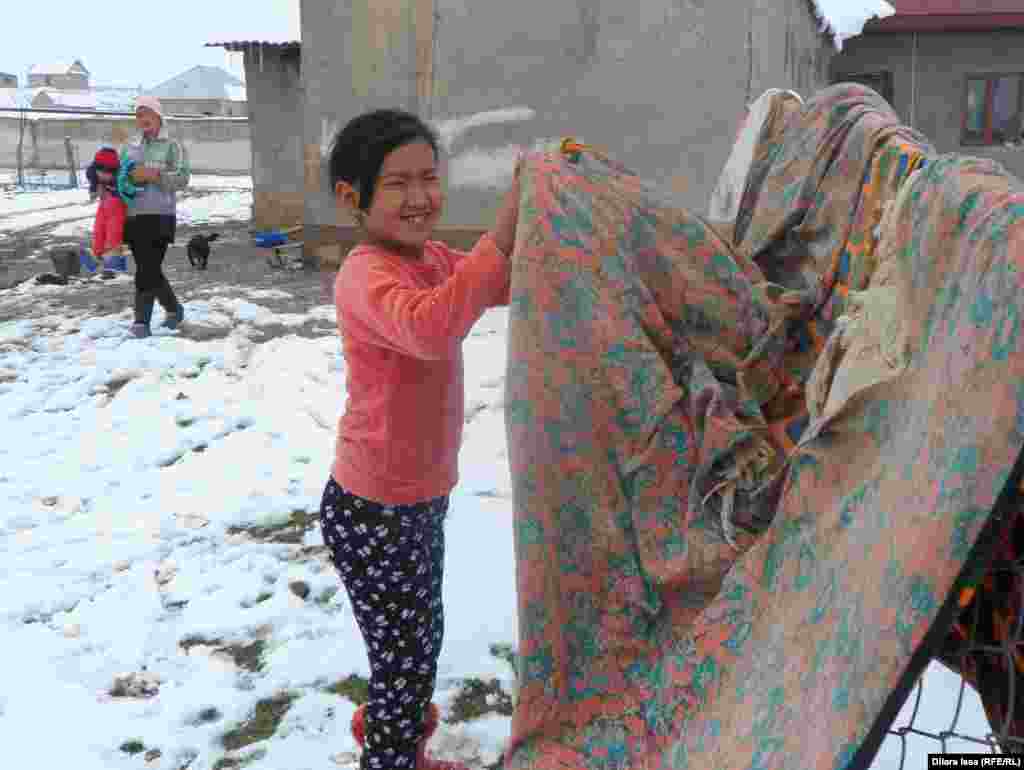
M 508 260 L 492 236 L 468 254 L 430 241 L 421 260 L 361 245 L 335 282 L 348 401 L 335 481 L 360 498 L 408 505 L 459 480 L 465 412 L 462 342 L 508 304 Z

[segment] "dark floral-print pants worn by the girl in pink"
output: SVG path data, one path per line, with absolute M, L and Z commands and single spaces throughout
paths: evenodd
M 332 478 L 321 527 L 370 657 L 364 770 L 415 768 L 444 636 L 441 578 L 449 499 L 384 506 Z

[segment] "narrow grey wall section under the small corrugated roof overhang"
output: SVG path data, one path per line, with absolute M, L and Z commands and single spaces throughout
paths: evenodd
M 297 50 L 245 54 L 252 125 L 253 219 L 257 227 L 302 223 L 302 81 Z

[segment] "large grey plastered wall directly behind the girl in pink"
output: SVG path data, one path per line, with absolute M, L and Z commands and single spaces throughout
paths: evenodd
M 435 120 L 530 108 L 453 153 L 572 134 L 703 211 L 745 100 L 825 85 L 831 53 L 806 0 L 303 0 L 302 40 L 314 226 L 337 223 L 317 167 L 330 136 L 394 105 Z M 488 224 L 499 199 L 452 187 L 444 223 Z

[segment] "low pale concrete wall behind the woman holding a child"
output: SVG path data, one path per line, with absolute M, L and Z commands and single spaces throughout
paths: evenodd
M 168 131 L 185 143 L 195 173 L 250 173 L 247 120 L 171 120 Z M 101 144 L 120 145 L 134 134 L 131 118 L 33 118 L 26 124 L 25 163 L 39 169 L 67 169 L 65 137 L 70 136 L 84 168 Z M 0 116 L 0 168 L 16 168 L 17 143 L 18 119 L 5 113 Z

